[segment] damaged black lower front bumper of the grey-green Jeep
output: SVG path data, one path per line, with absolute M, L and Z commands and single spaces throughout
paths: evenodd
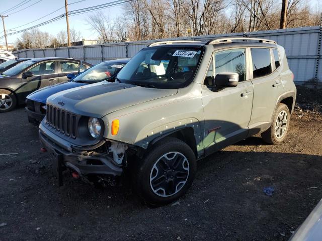
M 116 166 L 109 156 L 84 156 L 71 153 L 55 144 L 41 131 L 39 131 L 39 139 L 47 151 L 55 156 L 53 169 L 59 186 L 62 185 L 62 172 L 65 168 L 78 173 L 79 177 L 85 181 L 88 181 L 86 176 L 89 174 L 111 176 L 121 176 L 122 174 L 123 169 Z

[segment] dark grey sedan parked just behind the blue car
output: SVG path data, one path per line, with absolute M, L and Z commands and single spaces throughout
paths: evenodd
M 82 66 L 79 67 L 79 65 Z M 35 58 L 25 61 L 0 75 L 0 112 L 7 112 L 24 103 L 26 96 L 48 85 L 67 80 L 92 65 L 68 58 Z

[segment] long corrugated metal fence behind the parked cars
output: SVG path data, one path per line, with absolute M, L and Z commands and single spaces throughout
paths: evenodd
M 294 28 L 286 30 L 259 31 L 250 33 L 251 37 L 261 37 L 275 40 L 286 51 L 290 69 L 293 71 L 295 81 L 299 84 L 313 83 L 317 69 L 317 82 L 322 85 L 322 67 L 318 66 L 318 53 L 320 41 L 320 26 Z M 248 33 L 249 35 L 249 33 Z M 247 35 L 247 36 L 248 36 Z M 207 36 L 194 36 L 193 38 L 175 38 L 166 40 L 210 40 L 222 37 L 241 37 L 243 33 L 220 34 Z M 110 43 L 103 45 L 74 46 L 51 49 L 25 49 L 14 52 L 18 57 L 68 57 L 84 60 L 91 64 L 98 64 L 105 60 L 117 58 L 131 58 L 140 49 L 148 44 L 161 41 L 137 41 L 126 43 Z M 320 61 L 321 63 L 321 61 Z

